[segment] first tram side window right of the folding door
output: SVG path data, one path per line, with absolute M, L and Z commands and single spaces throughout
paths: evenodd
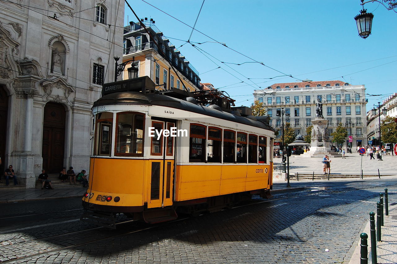
M 189 162 L 205 162 L 205 125 L 190 125 Z

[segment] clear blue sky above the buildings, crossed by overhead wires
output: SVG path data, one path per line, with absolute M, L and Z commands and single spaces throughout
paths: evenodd
M 354 20 L 359 0 L 205 0 L 195 29 L 212 39 L 197 31 L 191 35 L 190 27 L 166 14 L 193 26 L 202 0 L 145 1 L 165 13 L 143 0 L 128 0 L 139 18 L 153 18 L 172 44 L 183 45 L 179 50 L 202 83 L 224 87 L 238 106 L 251 105 L 254 89 L 297 79 L 341 80 L 365 85 L 367 94 L 385 94 L 367 95 L 367 111 L 397 92 L 397 13 L 377 2 L 364 6 L 374 14 L 372 35 L 364 40 Z M 127 6 L 124 21 L 137 21 Z M 229 48 L 212 42 L 192 43 L 195 48 L 186 42 L 190 35 L 191 42 L 216 40 Z M 282 73 L 296 78 L 276 77 Z

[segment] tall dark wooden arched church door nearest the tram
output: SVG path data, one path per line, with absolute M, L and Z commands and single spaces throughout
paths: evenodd
M 42 158 L 47 173 L 58 173 L 64 166 L 65 108 L 49 102 L 44 106 Z

